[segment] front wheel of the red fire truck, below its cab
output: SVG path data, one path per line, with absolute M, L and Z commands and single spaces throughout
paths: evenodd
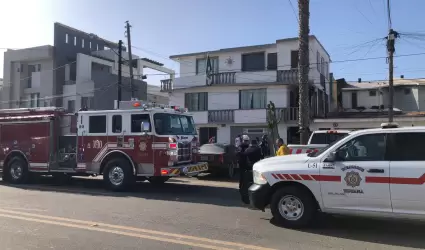
M 133 169 L 123 158 L 114 158 L 106 163 L 103 180 L 112 191 L 125 191 L 134 183 Z

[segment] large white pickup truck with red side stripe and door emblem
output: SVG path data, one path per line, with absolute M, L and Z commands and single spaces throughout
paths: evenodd
M 317 212 L 425 220 L 425 127 L 350 132 L 311 154 L 254 164 L 251 206 L 287 227 Z

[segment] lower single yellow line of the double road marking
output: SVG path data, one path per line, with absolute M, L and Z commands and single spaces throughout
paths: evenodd
M 155 240 L 155 241 L 162 241 L 162 242 L 174 243 L 174 244 L 180 244 L 180 245 L 186 245 L 186 246 L 192 246 L 192 247 L 200 247 L 200 248 L 205 248 L 205 249 L 232 250 L 230 248 L 215 247 L 215 246 L 211 246 L 211 245 L 205 245 L 205 244 L 189 242 L 189 241 L 184 241 L 184 240 L 165 239 L 165 238 L 160 238 L 160 237 L 155 237 L 155 236 L 150 236 L 150 235 L 144 235 L 144 234 L 130 233 L 130 232 L 124 232 L 124 231 L 118 231 L 118 230 L 111 230 L 111 229 L 103 229 L 103 228 L 98 228 L 98 227 L 93 227 L 93 226 L 89 227 L 89 226 L 83 226 L 83 225 L 77 225 L 77 224 L 71 224 L 71 223 L 65 223 L 65 222 L 48 221 L 48 220 L 28 218 L 28 217 L 22 217 L 22 216 L 10 215 L 10 214 L 0 213 L 0 217 L 17 219 L 17 220 L 25 220 L 25 221 L 31 221 L 31 222 L 38 222 L 38 223 L 57 225 L 57 226 L 64 226 L 64 227 L 70 227 L 70 228 L 85 229 L 85 230 L 90 230 L 90 231 L 112 233 L 112 234 L 118 234 L 118 235 L 124 235 L 124 236 L 130 236 L 130 237 L 136 237 L 136 238 L 142 238 L 142 239 L 149 239 L 149 240 Z

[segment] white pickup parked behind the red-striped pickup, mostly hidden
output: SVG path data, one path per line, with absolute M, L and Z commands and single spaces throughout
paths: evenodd
M 326 147 L 348 135 L 348 133 L 350 133 L 350 130 L 317 130 L 311 134 L 307 145 L 289 144 L 289 152 L 291 154 L 310 153 Z

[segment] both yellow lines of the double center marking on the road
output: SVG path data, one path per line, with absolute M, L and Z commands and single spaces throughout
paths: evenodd
M 173 240 L 173 239 L 167 239 L 167 238 L 163 238 L 163 237 L 159 238 L 159 237 L 156 237 L 156 236 L 149 236 L 149 235 L 142 235 L 142 234 L 140 234 L 142 236 L 155 238 L 154 240 L 159 240 L 159 241 L 173 240 L 173 241 L 178 241 L 178 242 L 186 242 L 186 241 L 180 240 L 180 239 L 184 239 L 184 240 L 199 241 L 199 242 L 203 242 L 203 243 L 225 245 L 226 247 L 239 247 L 239 248 L 243 248 L 243 249 L 252 249 L 252 250 L 274 250 L 272 248 L 264 248 L 264 247 L 260 247 L 260 246 L 254 246 L 254 245 L 246 245 L 246 244 L 236 243 L 236 242 L 228 242 L 228 241 L 222 241 L 222 240 L 213 240 L 213 239 L 195 237 L 195 236 L 190 236 L 190 235 L 160 232 L 160 231 L 154 231 L 154 230 L 143 229 L 143 228 L 134 228 L 134 227 L 128 227 L 128 226 L 119 226 L 119 225 L 113 225 L 113 224 L 107 224 L 107 223 L 100 223 L 100 222 L 93 222 L 93 221 L 83 221 L 83 220 L 69 219 L 69 218 L 56 217 L 56 216 L 48 216 L 48 215 L 41 215 L 41 214 L 33 214 L 33 213 L 25 213 L 25 212 L 18 212 L 18 211 L 10 211 L 10 210 L 5 210 L 5 209 L 1 209 L 1 208 L 0 208 L 0 212 L 3 213 L 3 214 L 0 214 L 0 216 L 2 216 L 2 217 L 13 216 L 13 217 L 18 217 L 16 219 L 24 219 L 24 220 L 25 219 L 30 219 L 30 220 L 36 220 L 37 222 L 41 222 L 41 223 L 51 223 L 51 224 L 52 223 L 53 224 L 54 223 L 59 223 L 58 225 L 66 224 L 66 225 L 72 225 L 72 226 L 79 227 L 79 228 L 84 228 L 84 229 L 87 229 L 88 228 L 90 230 L 92 230 L 92 229 L 101 229 L 101 230 L 113 231 L 111 233 L 123 232 L 123 231 L 115 231 L 115 230 L 110 230 L 110 229 L 99 228 L 99 227 L 108 227 L 108 228 L 120 229 L 120 230 L 127 230 L 127 231 L 133 231 L 133 232 L 138 232 L 138 233 L 146 233 L 146 234 L 152 234 L 152 235 L 158 235 L 158 236 L 167 236 L 167 237 L 177 238 L 177 240 Z M 21 217 L 21 216 L 28 216 L 28 217 L 33 217 L 33 218 Z M 36 219 L 36 218 L 40 218 L 40 219 Z M 60 222 L 60 221 L 62 221 L 62 222 Z M 75 223 L 75 224 L 70 224 L 70 223 Z M 80 224 L 80 225 L 76 225 L 76 224 Z M 96 227 L 93 227 L 93 225 L 96 225 Z M 123 232 L 123 233 L 127 233 L 127 232 Z M 131 234 L 134 234 L 134 233 L 131 233 Z M 134 235 L 139 235 L 139 234 L 134 234 Z M 141 236 L 133 236 L 133 237 L 143 238 Z M 147 238 L 147 239 L 151 239 L 151 238 Z M 172 243 L 175 243 L 175 242 L 172 242 Z M 176 244 L 189 245 L 187 243 L 176 243 Z M 193 243 L 193 244 L 198 244 L 198 243 Z M 203 246 L 199 246 L 199 245 L 203 245 Z M 208 249 L 227 249 L 227 248 L 221 248 L 221 247 L 217 248 L 217 247 L 213 247 L 211 245 L 204 245 L 204 244 L 200 244 L 200 243 L 199 243 L 199 245 L 196 245 L 196 246 L 197 247 L 208 248 Z M 207 247 L 204 247 L 204 246 L 207 246 Z

